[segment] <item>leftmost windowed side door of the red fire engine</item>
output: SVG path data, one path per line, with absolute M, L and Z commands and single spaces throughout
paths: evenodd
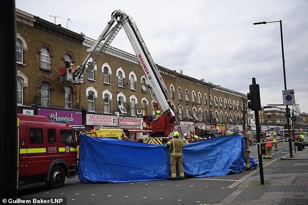
M 44 125 L 27 124 L 27 176 L 46 173 L 46 132 Z

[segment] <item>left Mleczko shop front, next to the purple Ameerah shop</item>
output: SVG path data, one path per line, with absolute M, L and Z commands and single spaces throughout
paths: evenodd
M 86 130 L 100 128 L 118 128 L 115 115 L 86 113 Z

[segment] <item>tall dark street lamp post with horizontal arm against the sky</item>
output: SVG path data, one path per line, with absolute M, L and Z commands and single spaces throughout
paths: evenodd
M 287 90 L 286 68 L 285 68 L 285 54 L 284 54 L 284 50 L 283 50 L 282 21 L 281 20 L 279 20 L 279 21 L 269 21 L 269 22 L 263 21 L 263 22 L 254 23 L 254 25 L 257 25 L 257 24 L 267 24 L 267 23 L 275 23 L 275 22 L 279 22 L 279 24 L 280 24 L 280 39 L 281 39 L 281 51 L 282 51 L 283 79 L 284 79 L 284 84 L 285 84 L 285 90 Z M 286 116 L 287 116 L 288 132 L 289 132 L 289 138 L 290 138 L 290 136 L 291 136 L 291 132 L 290 132 L 290 119 L 289 119 L 290 110 L 289 110 L 288 105 L 286 105 L 286 113 L 287 113 Z M 289 148 L 290 148 L 290 158 L 292 158 L 293 154 L 292 154 L 292 142 L 291 142 L 291 140 L 289 140 Z

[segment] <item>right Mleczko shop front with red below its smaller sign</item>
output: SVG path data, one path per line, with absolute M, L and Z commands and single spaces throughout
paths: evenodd
M 142 118 L 119 117 L 119 126 L 124 130 L 130 141 L 142 139 L 145 131 L 142 129 L 142 122 Z

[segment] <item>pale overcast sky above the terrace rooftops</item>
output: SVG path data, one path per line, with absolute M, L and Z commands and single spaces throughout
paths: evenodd
M 132 16 L 154 62 L 246 94 L 252 78 L 261 104 L 282 104 L 282 20 L 287 89 L 308 112 L 307 0 L 16 0 L 16 7 L 97 39 L 121 9 Z M 72 21 L 69 22 L 67 19 Z M 124 30 L 111 46 L 135 54 Z

